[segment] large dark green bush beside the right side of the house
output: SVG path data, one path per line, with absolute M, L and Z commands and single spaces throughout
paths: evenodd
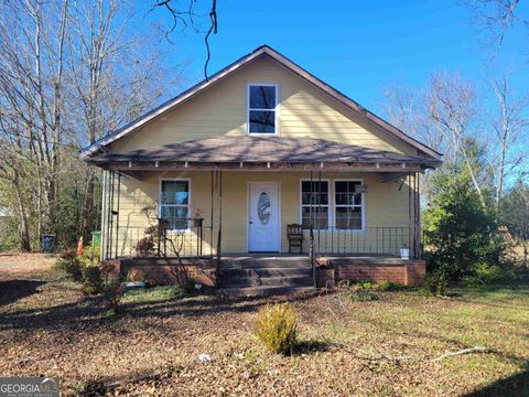
M 432 192 L 434 200 L 424 214 L 431 268 L 443 271 L 451 281 L 461 281 L 473 276 L 481 262 L 499 264 L 505 244 L 495 208 L 483 205 L 465 168 L 438 173 L 432 179 Z

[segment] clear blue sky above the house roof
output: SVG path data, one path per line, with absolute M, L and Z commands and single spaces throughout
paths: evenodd
M 528 15 L 527 2 L 522 7 Z M 210 40 L 210 73 L 269 44 L 375 111 L 380 111 L 382 90 L 391 84 L 421 86 L 439 71 L 461 72 L 475 82 L 484 75 L 486 56 L 473 13 L 456 0 L 218 0 L 217 8 L 219 32 Z M 164 10 L 149 15 L 166 17 Z M 529 89 L 525 33 L 511 30 L 500 54 L 501 63 L 515 68 L 520 90 Z M 203 35 L 188 29 L 171 37 L 168 62 L 186 63 L 181 87 L 185 88 L 203 78 Z

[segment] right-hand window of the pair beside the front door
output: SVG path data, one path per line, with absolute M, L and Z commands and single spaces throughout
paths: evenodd
M 363 228 L 360 181 L 334 181 L 335 226 L 337 229 Z

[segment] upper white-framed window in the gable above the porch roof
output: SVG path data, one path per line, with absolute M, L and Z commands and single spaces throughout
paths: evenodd
M 248 133 L 278 133 L 277 100 L 277 85 L 250 84 L 248 86 Z

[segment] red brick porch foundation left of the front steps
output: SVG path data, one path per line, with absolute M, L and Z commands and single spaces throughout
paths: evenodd
M 174 266 L 168 265 L 160 259 L 109 259 L 102 264 L 111 277 L 130 276 L 143 279 L 156 286 L 175 283 Z M 216 270 L 208 262 L 184 264 L 187 275 L 205 287 L 215 287 L 217 283 Z

